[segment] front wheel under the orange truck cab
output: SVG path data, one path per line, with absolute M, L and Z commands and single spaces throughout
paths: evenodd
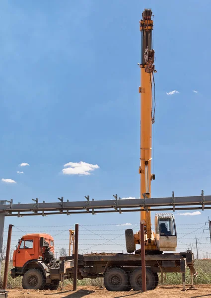
M 23 289 L 42 290 L 45 286 L 45 277 L 39 269 L 29 269 L 23 275 Z

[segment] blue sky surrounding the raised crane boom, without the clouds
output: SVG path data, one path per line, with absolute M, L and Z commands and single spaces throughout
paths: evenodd
M 0 2 L 0 198 L 139 196 L 140 31 L 152 8 L 156 114 L 152 197 L 211 194 L 211 2 Z M 167 95 L 177 90 L 179 93 Z M 197 90 L 198 93 L 193 92 Z M 64 175 L 64 164 L 97 164 Z M 26 162 L 29 166 L 20 167 Z M 24 171 L 18 174 L 16 171 Z M 178 224 L 207 221 L 177 216 Z M 11 218 L 6 225 L 138 223 L 140 215 Z M 153 218 L 153 215 L 152 215 Z M 153 220 L 152 220 L 153 222 Z

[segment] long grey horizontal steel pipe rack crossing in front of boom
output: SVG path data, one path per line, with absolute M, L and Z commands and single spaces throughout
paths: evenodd
M 64 202 L 63 197 L 59 199 L 59 202 L 51 203 L 39 203 L 38 198 L 33 200 L 35 203 L 28 204 L 13 204 L 12 200 L 0 201 L 0 213 L 5 213 L 6 216 L 21 216 L 23 213 L 26 215 L 47 215 L 47 214 L 73 214 L 73 213 L 105 213 L 105 212 L 136 212 L 143 210 L 147 211 L 147 208 L 151 207 L 151 211 L 167 211 L 167 210 L 194 210 L 194 209 L 210 209 L 211 208 L 211 196 L 204 196 L 203 192 L 201 196 L 191 197 L 168 197 L 168 198 L 149 198 L 149 199 L 117 199 L 117 195 L 114 196 L 114 200 L 101 200 L 92 201 L 89 197 L 85 197 L 87 201 L 75 201 Z M 2 204 L 3 202 L 3 204 Z M 190 207 L 196 206 L 198 207 Z M 210 205 L 210 207 L 208 206 Z M 168 208 L 164 208 L 167 206 Z M 170 207 L 171 206 L 171 207 Z M 180 209 L 178 208 L 180 206 Z M 189 207 L 186 207 L 189 206 Z M 137 209 L 134 209 L 137 208 Z M 103 209 L 103 210 L 102 210 Z M 111 210 L 110 210 L 111 209 Z M 129 210 L 128 210 L 129 209 Z M 101 210 L 101 211 L 100 211 Z M 22 213 L 22 214 L 20 214 Z

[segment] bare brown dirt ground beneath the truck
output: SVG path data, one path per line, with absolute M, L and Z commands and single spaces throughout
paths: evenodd
M 72 292 L 68 286 L 60 291 L 9 290 L 8 298 L 203 298 L 211 297 L 211 285 L 197 285 L 198 290 L 182 292 L 182 286 L 160 286 L 153 291 L 141 292 L 108 292 L 96 287 L 78 287 Z M 188 286 L 187 286 L 188 289 Z

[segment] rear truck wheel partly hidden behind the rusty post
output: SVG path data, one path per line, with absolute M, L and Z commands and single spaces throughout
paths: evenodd
M 142 290 L 142 272 L 141 267 L 134 270 L 130 279 L 131 287 L 134 291 Z M 153 290 L 155 288 L 155 277 L 150 270 L 146 270 L 146 290 Z

